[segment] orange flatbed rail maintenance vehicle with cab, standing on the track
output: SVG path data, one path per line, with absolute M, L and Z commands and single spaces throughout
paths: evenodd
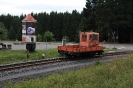
M 79 44 L 58 46 L 58 52 L 66 57 L 94 56 L 101 55 L 103 47 L 99 45 L 99 33 L 80 32 Z

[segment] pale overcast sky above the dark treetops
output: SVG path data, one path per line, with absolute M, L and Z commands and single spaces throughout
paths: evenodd
M 86 0 L 0 0 L 0 15 L 18 15 L 40 12 L 81 12 Z

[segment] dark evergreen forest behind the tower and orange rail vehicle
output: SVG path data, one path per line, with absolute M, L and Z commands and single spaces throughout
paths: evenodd
M 69 41 L 78 42 L 80 31 L 93 31 L 100 33 L 100 41 L 133 42 L 133 0 L 86 0 L 82 12 L 30 14 L 37 20 L 37 36 L 50 31 L 55 41 L 61 41 L 66 36 Z M 22 20 L 26 15 L 0 15 L 0 39 L 21 41 Z

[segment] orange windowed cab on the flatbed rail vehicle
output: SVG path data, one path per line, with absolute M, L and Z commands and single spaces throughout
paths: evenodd
M 80 47 L 95 47 L 99 44 L 99 33 L 97 32 L 81 32 Z

